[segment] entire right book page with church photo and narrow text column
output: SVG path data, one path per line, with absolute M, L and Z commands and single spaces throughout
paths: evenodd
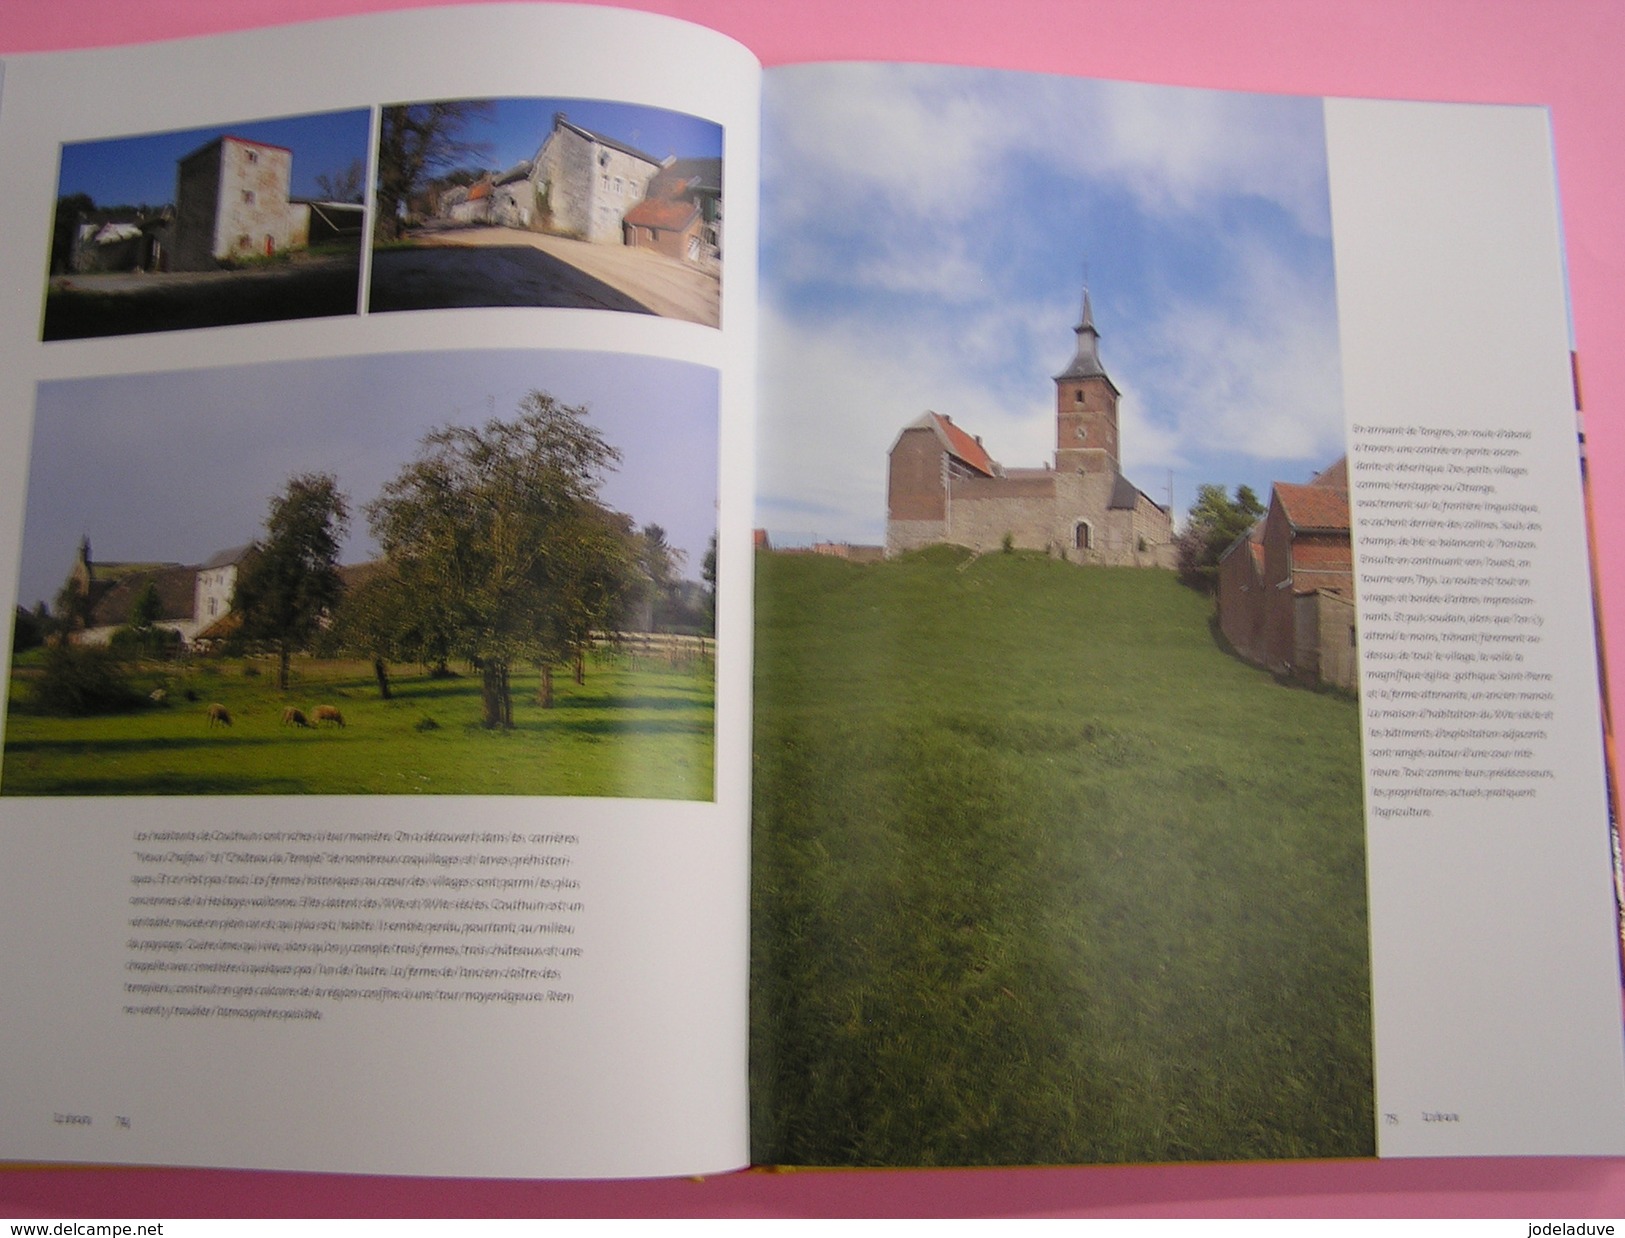
M 1625 1150 L 1545 114 L 793 67 L 762 203 L 752 1158 Z

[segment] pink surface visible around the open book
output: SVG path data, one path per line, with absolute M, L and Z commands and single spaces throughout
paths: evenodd
M 0 0 L 0 54 L 408 8 L 413 0 Z M 626 0 L 767 65 L 926 60 L 1300 94 L 1552 109 L 1596 478 L 1602 608 L 1625 650 L 1625 2 Z M 1513 349 L 1516 356 L 1516 349 Z M 1625 653 L 1615 653 L 1615 712 Z M 1615 713 L 1615 716 L 1618 716 Z M 1472 1215 L 1625 1217 L 1625 1160 L 743 1173 L 491 1183 L 16 1168 L 0 1215 Z

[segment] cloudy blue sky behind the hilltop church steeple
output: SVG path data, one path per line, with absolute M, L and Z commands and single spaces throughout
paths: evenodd
M 926 65 L 765 81 L 757 523 L 878 543 L 925 409 L 1053 460 L 1082 284 L 1123 471 L 1305 481 L 1342 453 L 1318 99 Z

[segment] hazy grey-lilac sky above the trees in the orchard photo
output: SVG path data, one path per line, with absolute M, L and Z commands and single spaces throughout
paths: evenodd
M 361 505 L 424 432 L 512 418 L 533 388 L 587 405 L 622 452 L 611 507 L 665 526 L 699 580 L 717 528 L 717 372 L 616 353 L 426 353 L 268 362 L 39 385 L 18 596 L 52 601 L 80 538 L 93 557 L 198 564 L 260 535 L 288 478 L 351 499 L 343 562 L 374 554 Z

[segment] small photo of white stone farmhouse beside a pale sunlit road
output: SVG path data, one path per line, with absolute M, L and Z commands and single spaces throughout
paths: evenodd
M 600 99 L 392 104 L 372 310 L 556 305 L 722 322 L 722 127 Z

